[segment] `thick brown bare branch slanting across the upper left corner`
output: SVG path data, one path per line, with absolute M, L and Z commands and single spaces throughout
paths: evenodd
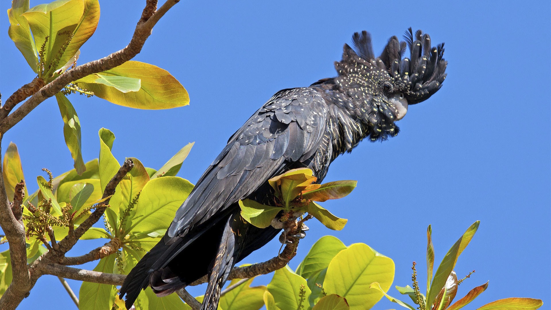
M 131 60 L 134 56 L 138 55 L 138 53 L 142 50 L 145 40 L 147 40 L 149 35 L 152 33 L 153 26 L 155 26 L 159 19 L 178 2 L 180 2 L 180 0 L 167 0 L 163 6 L 156 10 L 156 12 L 149 13 L 150 7 L 153 4 L 156 7 L 156 1 L 148 0 L 147 6 L 142 14 L 142 18 L 139 20 L 136 30 L 134 30 L 134 35 L 124 49 L 114 52 L 107 57 L 90 61 L 84 65 L 80 65 L 63 72 L 51 83 L 48 83 L 44 87 L 40 88 L 38 92 L 33 94 L 33 97 L 26 100 L 25 103 L 19 106 L 19 108 L 17 108 L 17 110 L 15 110 L 12 114 L 0 121 L 0 133 L 8 131 L 20 120 L 22 120 L 23 117 L 29 114 L 30 111 L 36 108 L 36 106 L 38 106 L 42 101 L 60 92 L 60 90 L 62 90 L 67 84 L 88 76 L 89 74 L 102 72 L 120 66 Z M 147 20 L 143 21 L 142 19 L 144 18 L 147 18 Z

